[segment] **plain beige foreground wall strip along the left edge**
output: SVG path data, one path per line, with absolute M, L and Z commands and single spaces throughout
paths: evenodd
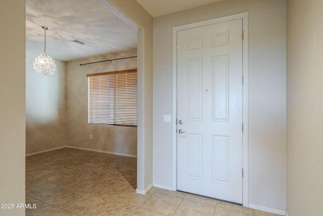
M 17 204 L 25 203 L 25 1 L 0 2 L 0 29 L 0 203 Z

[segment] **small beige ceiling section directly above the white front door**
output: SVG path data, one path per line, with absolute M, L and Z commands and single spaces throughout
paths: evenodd
M 158 17 L 223 0 L 137 0 L 152 17 Z

